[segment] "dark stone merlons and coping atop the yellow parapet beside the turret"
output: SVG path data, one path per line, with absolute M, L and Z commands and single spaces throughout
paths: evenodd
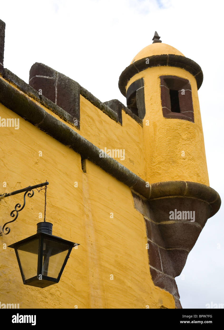
M 101 102 L 87 89 L 80 86 L 78 82 L 66 77 L 56 70 L 42 64 L 35 63 L 30 69 L 29 84 L 35 90 L 42 90 L 42 94 L 49 100 L 57 104 L 63 110 L 68 112 L 74 119 L 79 122 L 80 128 L 80 103 L 79 95 L 84 96 L 95 107 L 111 119 L 122 125 L 122 110 L 130 115 L 138 123 L 142 123 L 137 116 L 133 116 L 130 110 L 124 106 L 119 100 L 111 100 Z M 57 92 L 57 96 L 56 96 Z

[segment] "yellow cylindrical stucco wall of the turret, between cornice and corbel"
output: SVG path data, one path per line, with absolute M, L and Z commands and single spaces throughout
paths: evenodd
M 161 45 L 161 44 L 152 44 Z M 160 76 L 172 75 L 190 81 L 194 123 L 163 116 Z M 191 181 L 209 185 L 204 135 L 195 78 L 187 71 L 167 66 L 148 68 L 134 75 L 127 84 L 144 79 L 145 109 L 143 140 L 146 181 Z M 184 156 L 182 151 L 184 151 Z

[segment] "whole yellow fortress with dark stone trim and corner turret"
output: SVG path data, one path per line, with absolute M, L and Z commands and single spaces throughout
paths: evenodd
M 0 20 L 1 63 L 4 31 Z M 175 277 L 221 203 L 208 182 L 197 94 L 202 80 L 197 63 L 158 41 L 120 76 L 127 106 L 101 102 L 42 63 L 31 67 L 29 84 L 0 66 L 1 303 L 25 309 L 181 308 Z M 188 86 L 186 104 L 193 111 L 185 109 L 176 87 L 181 84 Z M 19 119 L 18 129 L 7 127 L 7 118 Z M 44 192 L 27 198 L 9 235 L 2 227 L 22 202 L 22 194 L 5 193 L 46 180 L 53 235 L 80 245 L 60 281 L 38 288 L 23 284 L 8 246 L 35 234 Z M 194 213 L 194 220 L 170 218 L 174 209 Z

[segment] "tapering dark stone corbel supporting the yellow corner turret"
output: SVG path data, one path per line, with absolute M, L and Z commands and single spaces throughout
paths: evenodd
M 148 199 L 135 192 L 132 196 L 145 220 L 152 280 L 174 296 L 176 308 L 182 308 L 175 277 L 181 274 L 207 219 L 219 210 L 220 196 L 209 186 L 184 181 L 150 184 Z

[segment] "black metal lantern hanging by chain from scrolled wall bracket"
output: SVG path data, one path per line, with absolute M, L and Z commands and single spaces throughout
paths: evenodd
M 79 245 L 52 235 L 53 225 L 45 220 L 46 191 L 48 184 L 49 183 L 46 181 L 32 187 L 29 186 L 2 195 L 2 198 L 5 198 L 24 192 L 23 206 L 21 207 L 19 203 L 16 204 L 15 209 L 10 213 L 10 216 L 15 217 L 15 219 L 5 223 L 2 228 L 3 233 L 5 230 L 6 233 L 4 234 L 8 235 L 10 233 L 10 228 L 6 227 L 6 225 L 17 219 L 19 211 L 23 210 L 25 206 L 26 195 L 32 197 L 34 195 L 33 189 L 45 186 L 44 222 L 39 222 L 37 224 L 37 233 L 35 235 L 8 246 L 9 248 L 15 249 L 23 284 L 40 288 L 59 282 L 72 248 Z M 42 190 L 42 188 L 40 190 Z

